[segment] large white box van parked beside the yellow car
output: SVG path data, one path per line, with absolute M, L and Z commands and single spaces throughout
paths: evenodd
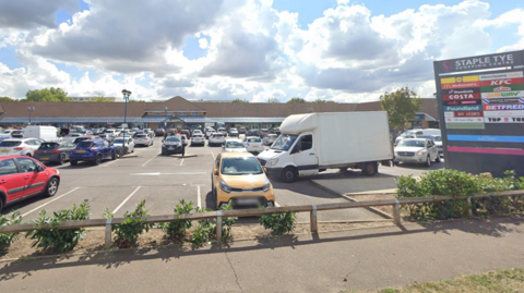
M 285 182 L 326 169 L 357 168 L 374 175 L 379 162 L 393 158 L 388 113 L 290 115 L 281 125 L 281 136 L 258 158 L 269 173 Z

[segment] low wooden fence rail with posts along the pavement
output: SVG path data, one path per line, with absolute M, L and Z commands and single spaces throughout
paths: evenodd
M 472 196 L 431 196 L 431 197 L 416 197 L 416 198 L 400 198 L 400 199 L 381 199 L 381 200 L 368 200 L 368 202 L 348 202 L 337 204 L 323 204 L 323 205 L 305 205 L 305 206 L 289 206 L 289 207 L 273 207 L 265 209 L 240 209 L 240 210 L 217 210 L 200 213 L 180 213 L 180 215 L 163 215 L 163 216 L 150 216 L 146 218 L 147 223 L 162 223 L 174 222 L 179 220 L 209 220 L 216 219 L 216 235 L 217 239 L 222 239 L 222 218 L 241 218 L 241 217 L 254 217 L 269 213 L 278 213 L 286 211 L 296 212 L 310 212 L 310 229 L 312 233 L 318 232 L 317 229 L 317 212 L 323 210 L 334 209 L 348 209 L 348 208 L 369 208 L 380 206 L 393 207 L 393 222 L 401 224 L 401 205 L 413 205 L 424 203 L 437 203 L 445 200 L 466 199 L 468 204 L 468 215 L 472 216 L 472 199 L 486 198 L 486 197 L 503 197 L 503 196 L 522 196 L 524 191 L 511 191 L 487 194 L 475 194 Z M 79 228 L 92 228 L 92 227 L 106 227 L 106 248 L 111 245 L 111 228 L 115 224 L 121 224 L 124 218 L 114 219 L 92 219 L 81 221 L 66 221 L 60 223 L 57 228 L 59 230 L 79 229 Z M 28 232 L 37 228 L 36 224 L 25 223 L 17 225 L 7 225 L 0 233 L 14 233 L 14 232 Z M 38 227 L 39 229 L 51 229 L 49 224 Z

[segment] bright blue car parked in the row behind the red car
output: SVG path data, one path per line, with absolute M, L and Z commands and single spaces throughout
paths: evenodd
M 83 141 L 80 142 L 70 155 L 71 166 L 79 161 L 91 161 L 94 164 L 100 164 L 103 160 L 116 160 L 120 148 L 111 145 L 106 139 Z

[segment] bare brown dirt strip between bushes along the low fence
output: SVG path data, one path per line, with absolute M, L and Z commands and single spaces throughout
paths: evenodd
M 377 222 L 329 222 L 329 223 L 318 223 L 319 233 L 322 232 L 333 232 L 333 231 L 346 231 L 355 230 L 362 228 L 371 227 L 383 227 L 392 225 L 389 221 L 377 221 Z M 186 239 L 189 239 L 188 233 Z M 294 235 L 309 234 L 310 224 L 309 223 L 297 223 Z M 234 225 L 231 228 L 231 242 L 242 241 L 242 240 L 254 240 L 254 239 L 264 239 L 271 236 L 271 231 L 265 230 L 260 224 L 242 224 Z M 9 251 L 0 256 L 1 259 L 13 259 L 13 258 L 24 258 L 24 257 L 38 257 L 46 255 L 58 255 L 63 254 L 60 252 L 48 252 L 40 248 L 32 247 L 33 241 L 26 239 L 25 234 L 20 234 L 16 240 L 13 241 Z M 67 254 L 86 254 L 94 253 L 97 251 L 104 251 L 105 243 L 105 231 L 104 229 L 88 229 L 85 231 L 85 237 L 79 242 L 73 251 L 68 252 Z M 164 236 L 164 232 L 159 229 L 151 229 L 147 233 L 140 235 L 139 241 L 134 247 L 139 248 L 156 248 L 159 246 L 167 245 L 177 245 L 177 246 L 191 246 L 191 243 L 187 241 L 171 241 Z M 112 243 L 112 249 L 118 249 Z

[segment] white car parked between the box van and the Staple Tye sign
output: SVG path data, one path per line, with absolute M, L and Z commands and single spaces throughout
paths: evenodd
M 395 164 L 398 162 L 416 162 L 427 167 L 431 161 L 440 162 L 439 148 L 433 141 L 426 138 L 404 138 L 395 146 Z

